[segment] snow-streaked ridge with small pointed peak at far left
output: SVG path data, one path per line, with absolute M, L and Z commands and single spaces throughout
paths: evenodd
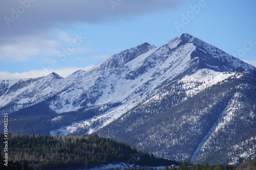
M 54 72 L 46 77 L 20 80 L 0 80 L 0 114 L 49 99 L 57 90 L 55 83 L 63 78 Z

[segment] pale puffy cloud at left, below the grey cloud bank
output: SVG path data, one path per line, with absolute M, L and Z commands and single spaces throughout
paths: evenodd
M 68 35 L 61 30 L 52 31 L 56 35 L 34 34 L 7 38 L 5 43 L 0 42 L 0 61 L 29 61 L 38 55 L 57 56 L 63 51 L 67 51 L 72 46 L 69 53 L 87 53 L 92 52 L 91 48 L 85 46 L 85 43 L 78 43 L 76 35 Z M 54 37 L 56 36 L 56 37 Z M 74 48 L 73 48 L 74 46 Z

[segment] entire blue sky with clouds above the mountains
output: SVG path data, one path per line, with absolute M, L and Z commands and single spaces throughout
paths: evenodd
M 62 77 L 189 33 L 256 66 L 256 2 L 0 0 L 0 79 Z

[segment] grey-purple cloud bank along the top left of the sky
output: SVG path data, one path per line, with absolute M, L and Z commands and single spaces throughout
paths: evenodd
M 137 14 L 175 9 L 178 0 L 20 0 L 0 5 L 1 37 L 36 34 L 62 23 L 109 22 Z

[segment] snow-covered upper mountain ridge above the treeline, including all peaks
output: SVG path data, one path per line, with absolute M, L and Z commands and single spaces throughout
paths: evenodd
M 196 45 L 196 46 L 195 46 Z M 229 61 L 231 64 L 227 66 L 224 65 L 223 68 L 219 68 L 218 65 L 209 65 L 208 67 L 217 69 L 219 71 L 222 71 L 222 69 L 225 69 L 225 71 L 229 71 L 232 69 L 254 69 L 253 66 L 234 58 L 225 52 L 219 50 L 218 48 L 209 45 L 202 40 L 199 40 L 189 34 L 182 34 L 179 37 L 176 37 L 175 39 L 167 42 L 163 46 L 156 48 L 154 45 L 143 43 L 141 45 L 138 45 L 134 48 L 131 48 L 129 50 L 123 51 L 117 55 L 113 55 L 110 58 L 102 61 L 101 63 L 97 64 L 93 68 L 91 68 L 88 71 L 78 70 L 74 72 L 72 75 L 68 76 L 67 78 L 63 79 L 59 77 L 57 74 L 52 73 L 44 78 L 40 78 L 40 80 L 37 79 L 25 79 L 25 80 L 18 80 L 19 82 L 16 82 L 16 86 L 22 86 L 27 85 L 28 83 L 32 83 L 35 80 L 36 83 L 32 83 L 31 87 L 27 87 L 30 90 L 26 91 L 26 89 L 19 89 L 19 91 L 10 91 L 7 90 L 4 94 L 0 96 L 0 106 L 6 106 L 11 103 L 34 103 L 39 100 L 38 95 L 42 94 L 43 96 L 49 95 L 58 95 L 61 100 L 68 100 L 65 98 L 65 95 L 68 95 L 66 93 L 69 93 L 72 95 L 71 90 L 73 89 L 79 89 L 76 91 L 76 95 L 80 93 L 80 96 L 84 98 L 85 95 L 87 95 L 87 90 L 90 89 L 91 82 L 95 85 L 101 85 L 103 89 L 106 89 L 106 87 L 101 83 L 105 81 L 109 77 L 113 77 L 113 80 L 109 81 L 110 83 L 117 83 L 116 80 L 119 80 L 119 84 L 116 85 L 122 86 L 121 84 L 123 82 L 120 81 L 121 79 L 125 80 L 134 80 L 141 74 L 143 74 L 145 71 L 147 71 L 147 74 L 151 74 L 148 77 L 145 77 L 146 79 L 155 79 L 156 75 L 158 74 L 165 74 L 166 69 L 172 68 L 172 72 L 168 76 L 172 76 L 172 78 L 175 77 L 175 75 L 178 75 L 179 72 L 184 71 L 184 67 L 187 67 L 186 64 L 193 63 L 194 60 L 197 62 L 200 62 L 200 59 L 204 56 L 201 55 L 201 58 L 198 58 L 196 55 L 200 52 L 203 52 L 207 54 L 204 50 L 202 50 L 202 47 L 207 47 L 207 53 L 209 53 L 212 57 L 218 57 L 222 56 L 222 59 L 224 61 Z M 187 54 L 186 54 L 187 53 Z M 191 53 L 191 54 L 190 54 Z M 205 55 L 204 54 L 204 55 Z M 179 57 L 182 56 L 182 57 Z M 186 57 L 187 56 L 187 57 Z M 202 59 L 205 60 L 205 59 Z M 212 63 L 211 63 L 212 64 Z M 213 63 L 215 64 L 215 63 Z M 219 63 L 216 63 L 219 64 Z M 152 69 L 151 72 L 146 69 L 151 69 L 157 67 L 157 70 Z M 228 67 L 228 68 L 225 68 Z M 232 68 L 229 68 L 232 67 Z M 122 72 L 126 71 L 127 73 L 125 75 L 122 74 Z M 168 72 L 168 71 L 167 71 Z M 104 74 L 103 74 L 104 73 Z M 121 77 L 120 77 L 121 76 Z M 168 77 L 165 76 L 165 77 Z M 165 78 L 162 76 L 162 79 Z M 168 77 L 170 79 L 170 77 Z M 61 81 L 60 81 L 61 80 Z M 42 81 L 45 81 L 42 83 Z M 51 82 L 49 84 L 49 82 Z M 4 84 L 4 82 L 1 82 Z M 138 83 L 138 81 L 136 82 Z M 144 82 L 145 83 L 145 82 Z M 38 84 L 46 84 L 46 86 L 41 86 L 41 88 L 38 88 Z M 50 85 L 50 87 L 48 86 Z M 5 85 L 6 86 L 6 85 Z M 75 87 L 74 87 L 75 86 Z M 13 86 L 12 86 L 13 87 Z M 47 88 L 45 88 L 47 87 Z M 92 87 L 92 86 L 91 86 Z M 8 88 L 8 87 L 5 87 Z M 113 86 L 110 88 L 113 89 Z M 120 88 L 120 87 L 119 87 Z M 41 91 L 41 89 L 43 91 Z M 118 88 L 117 88 L 118 89 Z M 110 91 L 110 90 L 108 90 Z M 12 92 L 11 96 L 12 99 L 6 99 L 5 96 L 7 96 L 10 92 Z M 96 92 L 96 91 L 95 91 Z M 94 93 L 96 96 L 92 96 L 92 98 L 98 98 L 101 94 L 101 89 L 98 89 L 96 93 Z M 31 98 L 33 93 L 33 98 Z M 38 93 L 38 94 L 37 94 Z M 39 94 L 40 93 L 40 94 Z M 22 101 L 19 101 L 19 95 L 22 94 Z M 108 96 L 105 94 L 106 98 Z M 27 98 L 28 100 L 24 100 L 24 98 Z M 87 101 L 81 101 L 79 103 L 74 103 L 75 101 L 67 101 L 66 103 L 71 103 L 75 107 L 74 109 L 69 108 L 69 110 L 76 110 L 77 108 L 81 108 L 86 105 L 91 105 L 96 102 L 96 98 L 92 99 L 90 102 Z M 120 99 L 122 101 L 123 99 Z M 40 100 L 39 100 L 40 101 Z M 109 102 L 109 101 L 108 101 Z M 100 104 L 102 103 L 102 100 L 100 101 Z M 63 104 L 63 103 L 62 103 Z M 53 103 L 53 106 L 51 107 L 53 110 L 57 112 L 63 112 L 68 108 L 63 108 L 62 110 L 59 109 L 58 105 L 59 103 Z M 96 103 L 97 105 L 97 103 Z M 67 111 L 67 110 L 66 110 Z

